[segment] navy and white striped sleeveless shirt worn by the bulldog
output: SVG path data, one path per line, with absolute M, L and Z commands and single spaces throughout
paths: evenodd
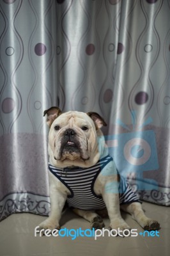
M 111 161 L 113 161 L 112 157 L 108 155 L 89 168 L 57 168 L 49 163 L 49 170 L 69 189 L 71 193 L 67 197 L 69 207 L 82 210 L 105 209 L 102 196 L 96 195 L 93 187 L 98 174 Z M 120 204 L 139 202 L 139 198 L 123 177 L 119 185 Z

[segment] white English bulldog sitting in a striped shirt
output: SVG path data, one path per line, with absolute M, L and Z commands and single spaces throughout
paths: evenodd
M 73 212 L 88 220 L 91 228 L 103 228 L 101 216 L 107 212 L 110 228 L 130 227 L 120 208 L 132 214 L 144 230 L 160 225 L 143 212 L 130 186 L 120 178 L 109 156 L 101 128 L 104 119 L 95 112 L 68 111 L 57 107 L 44 111 L 49 125 L 50 215 L 40 229 L 59 229 L 59 220 L 67 202 Z

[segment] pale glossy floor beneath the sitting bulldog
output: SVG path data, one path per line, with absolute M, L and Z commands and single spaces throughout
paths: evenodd
M 86 237 L 35 237 L 35 227 L 45 217 L 27 213 L 13 214 L 0 223 L 0 256 L 169 256 L 170 207 L 144 202 L 143 208 L 149 217 L 161 224 L 160 232 L 153 232 L 150 237 L 146 233 L 140 235 L 139 232 L 143 232 L 143 229 L 125 213 L 122 213 L 123 218 L 132 228 L 137 228 L 136 237 L 109 237 L 107 232 L 104 237 L 97 237 L 96 240 L 95 237 L 89 237 L 89 223 L 70 210 L 63 214 L 61 228 L 66 230 L 81 227 L 82 230 L 87 230 L 84 231 Z M 105 228 L 108 226 L 109 220 L 105 219 Z M 64 232 L 61 235 L 64 236 Z M 73 233 L 70 231 L 70 234 Z

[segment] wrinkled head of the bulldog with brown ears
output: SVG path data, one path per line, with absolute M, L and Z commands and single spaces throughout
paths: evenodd
M 104 154 L 104 119 L 95 112 L 68 111 L 57 107 L 44 111 L 49 131 L 49 157 L 54 166 L 88 167 Z

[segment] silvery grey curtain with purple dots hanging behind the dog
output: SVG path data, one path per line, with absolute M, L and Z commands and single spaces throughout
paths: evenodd
M 102 115 L 121 174 L 170 205 L 169 13 L 169 0 L 0 0 L 1 220 L 50 211 L 50 106 Z

